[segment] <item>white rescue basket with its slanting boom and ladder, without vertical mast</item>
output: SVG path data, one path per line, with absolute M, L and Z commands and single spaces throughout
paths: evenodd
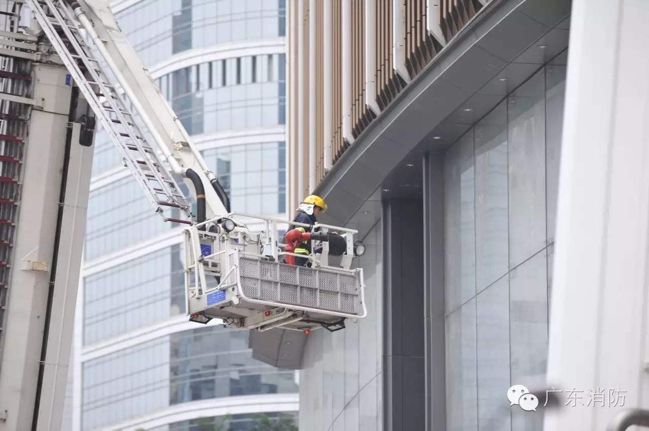
M 321 233 L 312 241 L 310 266 L 284 263 L 293 253 L 284 250 L 278 226 L 299 224 L 230 211 L 227 193 L 127 42 L 108 1 L 27 0 L 27 5 L 154 211 L 164 222 L 186 225 L 191 321 L 217 318 L 233 328 L 308 333 L 343 329 L 345 319 L 366 316 L 363 271 L 352 268 L 358 250 L 364 250 L 354 240 L 357 232 L 304 225 Z M 195 190 L 195 214 L 177 179 Z M 251 220 L 265 229 L 252 231 Z M 328 239 L 335 240 L 336 250 Z

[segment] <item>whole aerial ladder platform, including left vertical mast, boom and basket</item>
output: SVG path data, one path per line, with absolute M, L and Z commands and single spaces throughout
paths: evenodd
M 310 332 L 366 316 L 356 231 L 232 212 L 108 1 L 0 8 L 0 430 L 61 429 L 100 125 L 178 226 L 191 321 Z M 313 232 L 309 267 L 285 263 L 291 225 Z

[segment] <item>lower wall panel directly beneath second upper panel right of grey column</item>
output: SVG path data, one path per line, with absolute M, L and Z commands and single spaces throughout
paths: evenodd
M 478 324 L 478 421 L 480 430 L 510 430 L 509 279 L 504 276 L 476 297 Z

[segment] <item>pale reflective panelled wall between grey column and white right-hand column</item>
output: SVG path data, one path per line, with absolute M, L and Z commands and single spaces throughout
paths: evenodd
M 565 66 L 546 65 L 445 155 L 447 430 L 539 430 Z M 515 407 L 515 406 L 514 406 Z

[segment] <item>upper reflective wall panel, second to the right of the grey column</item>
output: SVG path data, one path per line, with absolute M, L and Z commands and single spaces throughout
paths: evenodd
M 508 271 L 507 104 L 475 126 L 476 285 L 478 291 Z

